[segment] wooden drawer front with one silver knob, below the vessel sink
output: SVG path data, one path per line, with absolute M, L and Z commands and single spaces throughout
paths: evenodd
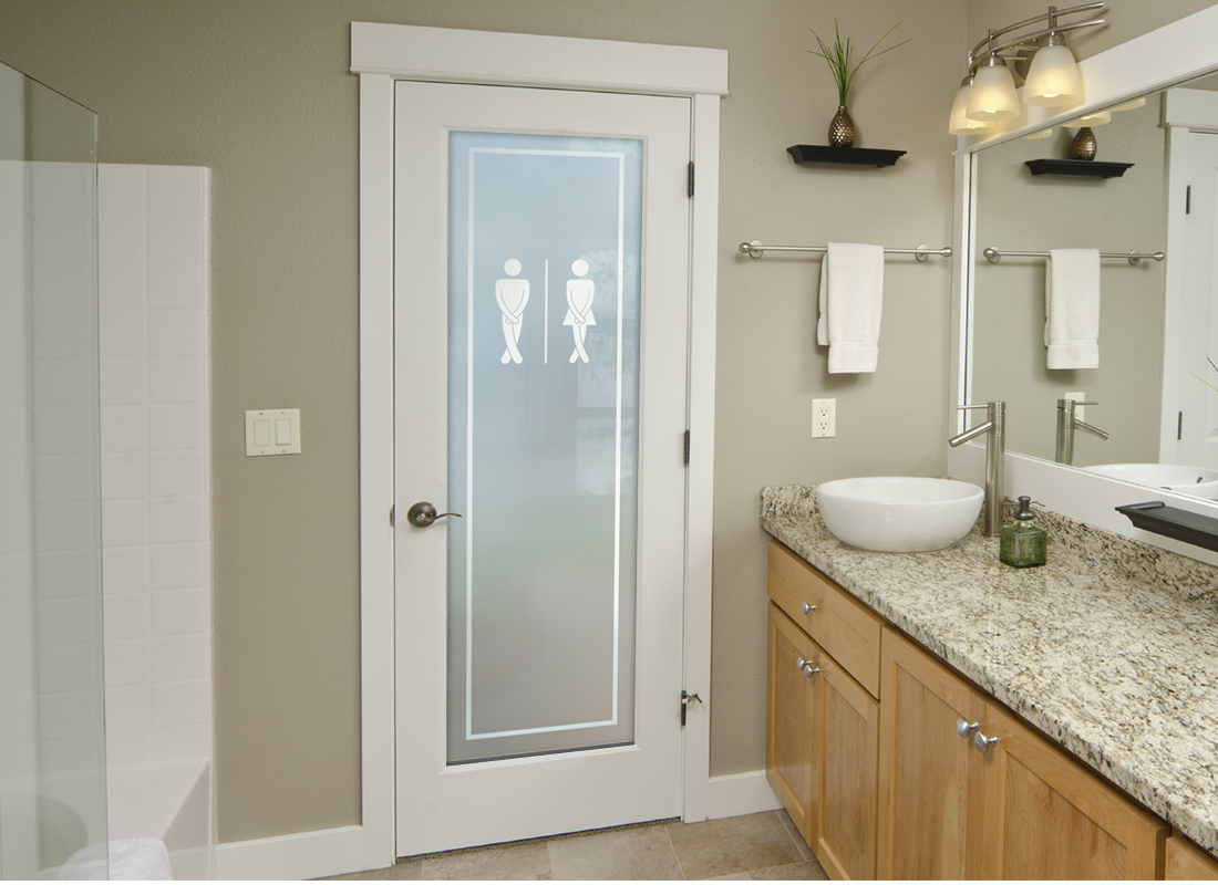
M 883 618 L 776 540 L 770 542 L 766 586 L 780 609 L 873 698 L 879 696 Z

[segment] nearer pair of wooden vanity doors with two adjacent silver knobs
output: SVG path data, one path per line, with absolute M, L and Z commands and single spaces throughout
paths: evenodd
M 881 660 L 881 878 L 1163 876 L 1163 822 L 890 628 Z

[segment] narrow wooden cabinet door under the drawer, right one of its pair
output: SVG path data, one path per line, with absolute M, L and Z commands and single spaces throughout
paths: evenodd
M 828 655 L 818 661 L 821 813 L 812 850 L 832 879 L 875 879 L 879 702 Z

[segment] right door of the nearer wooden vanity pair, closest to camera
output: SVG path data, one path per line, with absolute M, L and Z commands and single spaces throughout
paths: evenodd
M 994 879 L 1161 879 L 1167 824 L 989 704 L 985 874 Z

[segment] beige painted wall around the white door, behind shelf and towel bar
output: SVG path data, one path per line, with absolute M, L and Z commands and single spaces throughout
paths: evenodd
M 954 139 L 944 121 L 962 73 L 965 10 L 966 0 L 0 6 L 0 58 L 100 113 L 102 162 L 214 170 L 222 841 L 359 818 L 357 83 L 347 74 L 348 23 L 730 50 L 711 728 L 713 773 L 728 774 L 764 763 L 758 492 L 857 474 L 943 472 L 949 303 L 946 262 L 889 262 L 879 371 L 831 377 L 812 345 L 818 262 L 752 261 L 736 243 L 950 241 Z M 898 21 L 898 34 L 911 38 L 864 68 L 851 100 L 861 146 L 909 151 L 892 169 L 799 168 L 786 153 L 790 144 L 823 142 L 834 91 L 823 62 L 805 52 L 806 28 L 823 35 L 834 15 L 861 40 Z M 812 397 L 837 398 L 837 438 L 808 438 Z M 268 407 L 303 410 L 298 458 L 245 458 L 241 413 Z

